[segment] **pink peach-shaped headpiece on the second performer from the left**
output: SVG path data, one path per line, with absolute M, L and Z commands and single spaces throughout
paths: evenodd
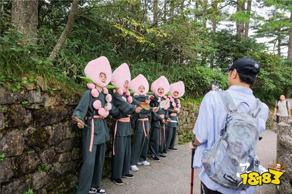
M 118 88 L 122 88 L 125 92 L 126 89 L 124 88 L 125 82 L 128 80 L 129 85 L 131 82 L 131 73 L 127 63 L 123 63 L 120 65 L 115 71 L 112 72 L 111 77 L 111 84 Z

